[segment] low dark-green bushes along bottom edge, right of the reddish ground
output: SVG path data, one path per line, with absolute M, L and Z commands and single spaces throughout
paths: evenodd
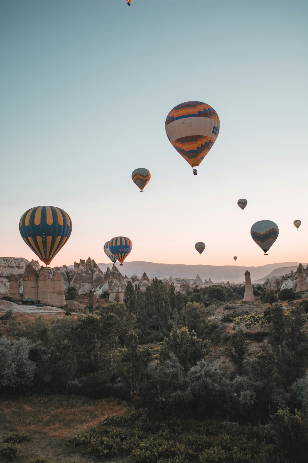
M 301 463 L 306 461 L 307 436 L 302 413 L 285 408 L 269 425 L 255 427 L 214 420 L 156 421 L 142 414 L 110 417 L 67 445 L 82 446 L 100 458 L 129 457 L 133 463 Z

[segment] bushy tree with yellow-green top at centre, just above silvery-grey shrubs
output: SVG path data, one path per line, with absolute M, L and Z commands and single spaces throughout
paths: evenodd
M 197 338 L 195 332 L 189 332 L 187 326 L 175 328 L 173 326 L 168 338 L 164 338 L 164 346 L 160 350 L 160 357 L 166 360 L 169 352 L 178 359 L 185 371 L 202 360 L 209 350 L 209 343 Z

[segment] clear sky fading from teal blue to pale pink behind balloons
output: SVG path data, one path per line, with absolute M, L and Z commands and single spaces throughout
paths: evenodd
M 72 219 L 51 266 L 107 263 L 119 235 L 129 262 L 308 262 L 306 0 L 0 0 L 0 43 L 0 256 L 37 259 L 19 219 L 49 205 Z M 220 119 L 197 176 L 164 128 L 189 100 Z

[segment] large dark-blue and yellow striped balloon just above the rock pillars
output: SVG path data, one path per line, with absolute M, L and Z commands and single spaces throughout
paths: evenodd
M 36 256 L 49 265 L 70 237 L 72 220 L 60 207 L 36 206 L 22 215 L 19 232 Z

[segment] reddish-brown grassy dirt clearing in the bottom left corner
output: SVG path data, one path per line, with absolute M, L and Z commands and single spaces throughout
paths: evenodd
M 41 394 L 0 399 L 0 442 L 12 432 L 25 432 L 30 440 L 18 444 L 19 456 L 14 461 L 46 458 L 52 462 L 97 463 L 80 448 L 67 447 L 74 434 L 98 426 L 108 415 L 122 415 L 127 406 L 121 400 L 90 400 L 73 395 L 44 396 Z M 78 451 L 77 451 L 78 450 Z M 5 462 L 6 460 L 3 460 Z M 126 463 L 127 460 L 105 460 Z

